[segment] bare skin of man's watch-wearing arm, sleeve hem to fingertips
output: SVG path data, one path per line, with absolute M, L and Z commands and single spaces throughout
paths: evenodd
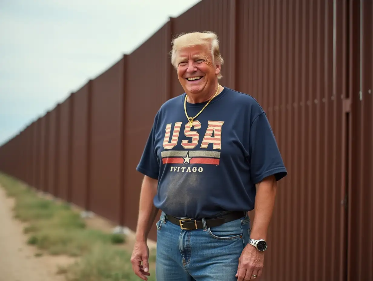
M 275 176 L 264 178 L 255 187 L 254 219 L 250 238 L 266 240 L 275 205 L 277 188 Z M 257 280 L 261 276 L 263 266 L 264 252 L 259 252 L 254 246 L 247 244 L 239 258 L 236 277 L 238 277 L 238 281 Z M 256 275 L 256 277 L 253 277 L 253 275 Z

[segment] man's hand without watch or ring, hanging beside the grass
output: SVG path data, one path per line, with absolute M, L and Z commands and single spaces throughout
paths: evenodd
M 132 251 L 131 263 L 135 274 L 142 280 L 148 280 L 149 276 L 149 247 L 145 241 L 136 241 Z M 142 262 L 142 265 L 141 265 Z M 146 275 L 146 276 L 145 276 Z

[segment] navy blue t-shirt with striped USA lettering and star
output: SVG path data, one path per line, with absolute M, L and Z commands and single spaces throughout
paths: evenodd
M 189 218 L 252 210 L 255 184 L 287 174 L 266 113 L 250 95 L 225 87 L 190 127 L 185 96 L 160 107 L 137 166 L 158 179 L 154 205 Z M 206 103 L 187 102 L 188 116 Z

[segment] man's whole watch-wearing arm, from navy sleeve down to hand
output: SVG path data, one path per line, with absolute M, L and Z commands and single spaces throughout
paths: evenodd
M 256 110 L 260 111 L 259 107 Z M 255 183 L 256 189 L 250 238 L 266 240 L 275 206 L 277 182 L 287 175 L 287 171 L 265 112 L 261 112 L 251 121 L 246 147 L 251 182 Z M 254 187 L 250 185 L 249 188 Z M 253 241 L 253 244 L 255 243 Z M 248 243 L 239 257 L 236 274 L 238 281 L 258 281 L 261 276 L 266 243 L 260 241 L 255 245 Z

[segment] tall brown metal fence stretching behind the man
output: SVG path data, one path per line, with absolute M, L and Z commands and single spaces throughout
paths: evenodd
M 372 0 L 203 0 L 0 147 L 1 171 L 135 230 L 136 165 L 183 92 L 170 41 L 195 30 L 217 32 L 221 84 L 263 106 L 288 168 L 263 280 L 373 280 Z

